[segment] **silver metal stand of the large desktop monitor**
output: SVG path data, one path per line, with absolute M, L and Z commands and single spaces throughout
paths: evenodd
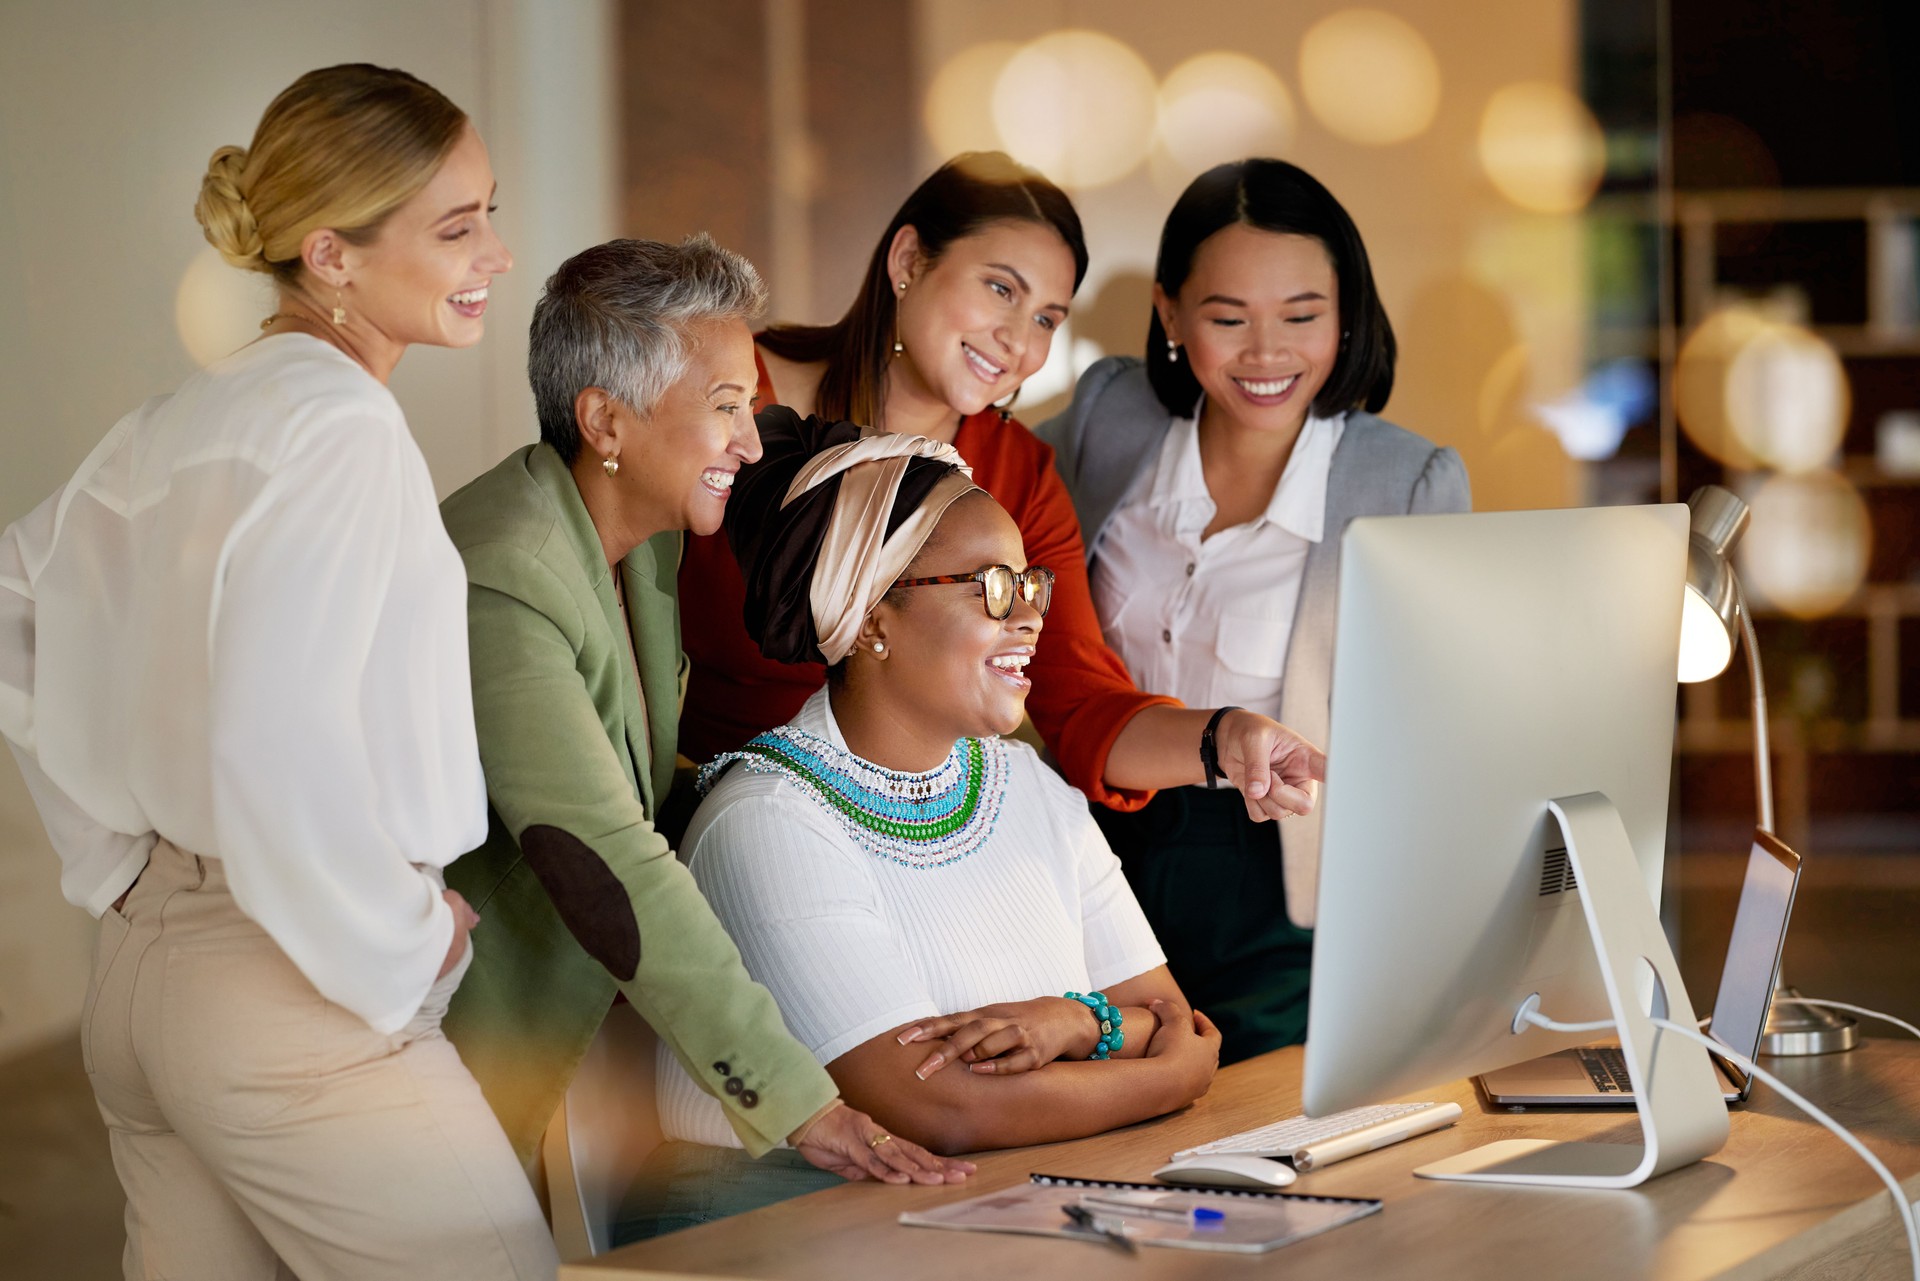
M 1626 837 L 1619 810 L 1597 791 L 1559 797 L 1549 801 L 1548 809 L 1567 837 L 1567 857 L 1580 885 L 1588 933 L 1599 955 L 1607 1003 L 1613 1006 L 1620 1049 L 1640 1100 L 1644 1143 L 1505 1139 L 1421 1166 L 1413 1173 L 1423 1179 L 1636 1187 L 1711 1156 L 1726 1145 L 1726 1100 L 1720 1097 L 1718 1076 L 1705 1047 L 1663 1033 L 1647 1022 L 1647 1010 L 1640 1004 L 1640 962 L 1645 960 L 1657 978 L 1655 1010 L 1665 995 L 1665 1018 L 1697 1024 L 1693 1003 L 1688 1001 L 1686 985 L 1680 981 L 1680 968 L 1653 912 L 1653 901 L 1640 882 L 1640 864 L 1634 860 L 1634 845 Z M 1515 1031 L 1524 1027 L 1517 1016 Z

